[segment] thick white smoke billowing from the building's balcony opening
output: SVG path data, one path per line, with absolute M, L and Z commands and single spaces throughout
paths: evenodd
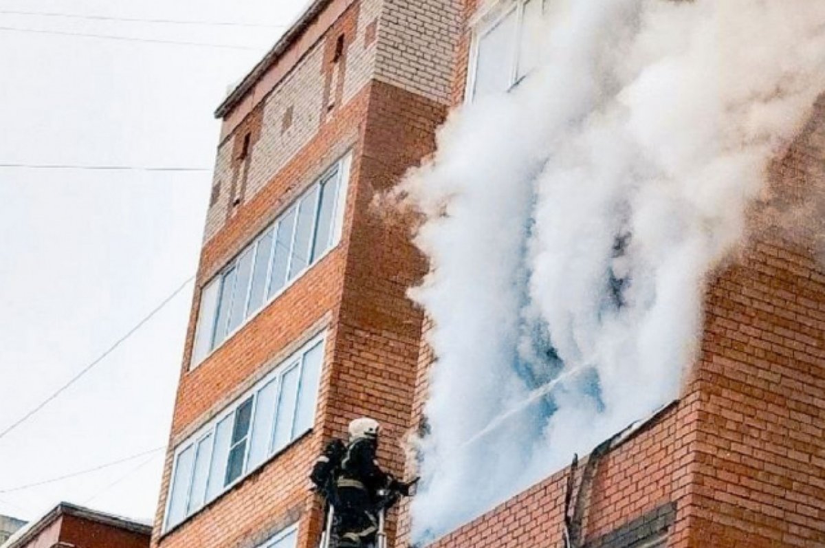
M 823 0 L 548 3 L 541 68 L 403 187 L 437 360 L 417 540 L 676 397 L 705 277 L 825 89 Z

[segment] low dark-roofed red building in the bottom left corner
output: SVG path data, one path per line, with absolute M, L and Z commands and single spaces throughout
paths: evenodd
M 3 548 L 148 548 L 152 526 L 59 503 L 17 531 Z

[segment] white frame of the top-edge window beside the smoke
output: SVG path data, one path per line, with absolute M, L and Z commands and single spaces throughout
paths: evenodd
M 545 12 L 547 9 L 548 0 L 539 1 L 542 5 L 542 11 Z M 521 34 L 524 32 L 524 12 L 527 2 L 529 2 L 529 0 L 502 0 L 501 2 L 494 2 L 493 5 L 483 9 L 483 11 L 479 12 L 479 14 L 471 20 L 470 24 L 474 27 L 474 29 L 473 38 L 470 43 L 469 67 L 467 71 L 467 85 L 464 88 L 464 101 L 471 103 L 475 99 L 474 89 L 476 73 L 479 68 L 479 45 L 481 39 L 490 31 L 493 31 L 493 29 L 495 29 L 505 17 L 510 15 L 513 10 L 517 10 L 515 37 L 516 47 L 513 48 L 513 59 L 510 67 L 509 78 L 507 78 L 507 91 L 509 92 L 512 90 L 513 87 L 516 87 L 516 85 L 526 77 L 525 75 L 519 78 L 518 73 L 520 61 L 519 46 L 521 45 Z

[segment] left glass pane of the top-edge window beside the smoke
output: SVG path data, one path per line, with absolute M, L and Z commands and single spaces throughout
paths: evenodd
M 475 60 L 474 99 L 506 92 L 510 88 L 517 25 L 516 10 L 512 9 L 479 39 Z

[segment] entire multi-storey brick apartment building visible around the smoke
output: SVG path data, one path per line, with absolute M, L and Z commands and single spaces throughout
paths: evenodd
M 306 476 L 323 443 L 363 414 L 389 437 L 417 428 L 431 353 L 405 291 L 426 266 L 374 198 L 431 154 L 451 106 L 529 70 L 522 29 L 541 10 L 316 0 L 219 106 L 153 547 L 317 546 Z M 488 62 L 502 45 L 512 56 Z M 823 160 L 825 101 L 775 187 L 799 199 L 825 184 Z M 823 330 L 811 245 L 757 234 L 709 287 L 676 402 L 432 546 L 561 546 L 568 490 L 579 545 L 825 546 Z M 408 545 L 400 514 L 390 546 Z

